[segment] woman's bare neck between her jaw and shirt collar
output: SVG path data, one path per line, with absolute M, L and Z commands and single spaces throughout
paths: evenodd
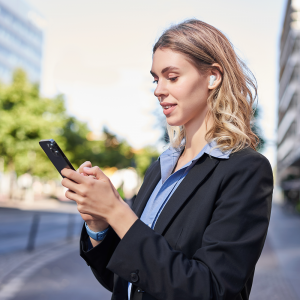
M 212 118 L 210 117 L 207 119 L 206 112 L 207 109 L 203 111 L 202 115 L 200 115 L 197 119 L 193 119 L 184 125 L 186 143 L 185 150 L 182 155 L 184 155 L 187 160 L 193 159 L 207 144 L 205 135 L 212 127 Z

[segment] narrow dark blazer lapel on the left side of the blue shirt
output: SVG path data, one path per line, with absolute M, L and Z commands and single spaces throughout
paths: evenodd
M 159 160 L 155 162 L 155 165 L 153 166 L 150 174 L 147 177 L 148 178 L 144 181 L 135 198 L 134 204 L 136 205 L 134 205 L 132 208 L 139 218 L 141 217 L 147 201 L 149 200 L 153 190 L 155 189 L 157 183 L 161 178 Z

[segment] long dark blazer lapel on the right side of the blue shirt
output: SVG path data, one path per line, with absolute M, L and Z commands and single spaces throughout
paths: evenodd
M 171 196 L 166 206 L 162 210 L 157 219 L 154 230 L 163 234 L 168 224 L 173 219 L 176 212 L 187 201 L 192 192 L 202 183 L 202 181 L 214 170 L 218 165 L 219 160 L 209 157 L 204 154 L 189 171 L 187 176 L 183 179 L 177 187 L 174 194 Z M 148 199 L 148 198 L 147 198 Z

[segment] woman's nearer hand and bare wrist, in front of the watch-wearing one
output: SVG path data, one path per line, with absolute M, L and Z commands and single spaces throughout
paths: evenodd
M 62 180 L 62 185 L 69 189 L 66 197 L 77 202 L 78 211 L 82 215 L 110 224 L 122 238 L 138 217 L 99 167 L 83 167 L 82 170 L 88 176 L 70 169 L 62 170 L 62 175 L 66 177 Z M 91 230 L 99 231 L 93 227 Z

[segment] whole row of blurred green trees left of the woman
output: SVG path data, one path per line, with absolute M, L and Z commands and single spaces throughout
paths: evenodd
M 16 70 L 10 85 L 0 85 L 0 157 L 6 171 L 18 175 L 57 178 L 58 173 L 39 146 L 42 139 L 54 139 L 75 168 L 86 160 L 99 167 L 136 166 L 143 175 L 155 150 L 134 153 L 124 140 L 104 128 L 101 139 L 91 138 L 86 123 L 69 116 L 62 95 L 43 98 L 39 86 L 31 84 L 22 70 Z

